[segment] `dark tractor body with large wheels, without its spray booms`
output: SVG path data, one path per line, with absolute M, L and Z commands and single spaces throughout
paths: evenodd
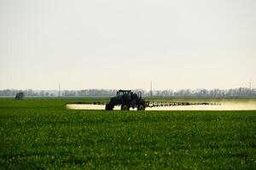
M 110 99 L 106 105 L 106 111 L 113 111 L 115 105 L 121 105 L 121 111 L 129 111 L 137 108 L 137 111 L 145 111 L 147 102 L 142 99 L 142 93 L 135 94 L 131 90 L 119 90 L 116 96 Z

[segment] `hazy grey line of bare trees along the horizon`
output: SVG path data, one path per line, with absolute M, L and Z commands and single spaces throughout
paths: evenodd
M 181 89 L 181 90 L 154 90 L 152 92 L 143 89 L 134 89 L 134 92 L 142 92 L 143 96 L 150 97 L 256 97 L 256 88 L 230 88 L 230 89 Z M 3 89 L 0 96 L 15 96 L 23 92 L 28 97 L 58 97 L 58 90 L 20 90 Z M 83 97 L 83 96 L 114 96 L 115 89 L 83 89 L 83 90 L 61 90 L 62 97 Z

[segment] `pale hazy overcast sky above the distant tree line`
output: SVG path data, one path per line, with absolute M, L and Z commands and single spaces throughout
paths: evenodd
M 0 0 L 0 89 L 256 84 L 255 0 Z

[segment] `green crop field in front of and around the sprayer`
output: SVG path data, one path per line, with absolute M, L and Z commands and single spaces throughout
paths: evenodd
M 0 169 L 256 169 L 256 111 L 65 108 L 75 101 L 0 99 Z

